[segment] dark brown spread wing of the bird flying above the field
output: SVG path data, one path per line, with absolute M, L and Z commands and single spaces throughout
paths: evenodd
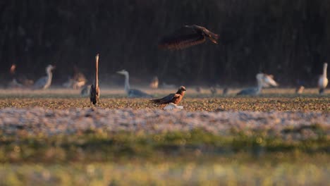
M 161 38 L 159 47 L 162 49 L 185 49 L 189 46 L 205 42 L 202 32 L 193 27 L 181 27 L 171 35 Z

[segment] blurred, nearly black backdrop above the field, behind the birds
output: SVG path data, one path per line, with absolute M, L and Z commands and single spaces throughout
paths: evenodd
M 316 84 L 329 59 L 329 0 L 72 0 L 0 1 L 1 79 L 12 63 L 32 79 L 56 65 L 61 83 L 77 66 L 92 80 L 126 69 L 133 79 L 176 84 L 250 85 L 270 73 L 281 85 Z M 219 34 L 182 51 L 157 48 L 184 24 Z

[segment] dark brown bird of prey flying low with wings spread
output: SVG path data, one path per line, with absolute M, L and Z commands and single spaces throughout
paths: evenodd
M 185 25 L 171 35 L 161 38 L 159 48 L 161 49 L 185 49 L 189 46 L 201 44 L 209 38 L 214 44 L 218 44 L 218 35 L 198 25 Z

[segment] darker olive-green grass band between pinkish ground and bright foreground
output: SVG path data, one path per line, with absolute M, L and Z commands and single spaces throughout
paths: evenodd
M 324 154 L 330 151 L 330 138 L 317 125 L 315 135 L 302 140 L 286 140 L 271 132 L 235 132 L 215 135 L 204 130 L 145 134 L 86 131 L 75 135 L 5 136 L 0 138 L 0 162 L 113 161 L 118 159 L 164 159 L 180 157 L 295 153 Z M 298 129 L 293 129 L 297 132 Z M 284 130 L 283 132 L 292 132 Z

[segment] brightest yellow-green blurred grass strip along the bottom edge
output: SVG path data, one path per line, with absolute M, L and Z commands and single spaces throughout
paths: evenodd
M 329 185 L 330 164 L 315 162 L 128 161 L 0 164 L 0 185 Z

